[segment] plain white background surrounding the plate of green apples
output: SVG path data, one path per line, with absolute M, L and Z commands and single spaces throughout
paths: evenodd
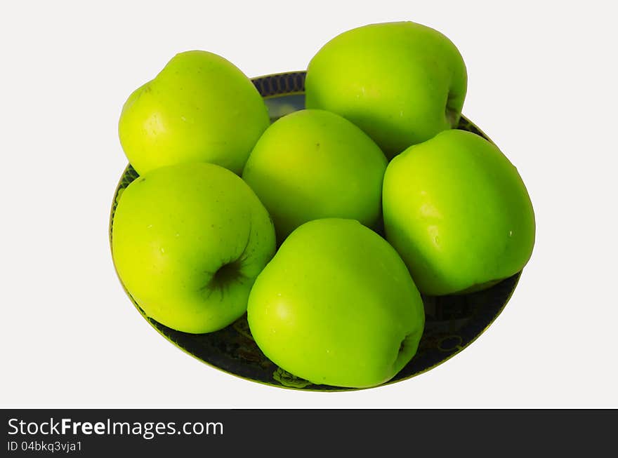
M 611 5 L 4 2 L 0 407 L 618 407 Z M 389 20 L 456 43 L 464 114 L 527 184 L 537 244 L 515 295 L 458 356 L 391 386 L 289 391 L 199 363 L 147 324 L 114 273 L 122 104 L 182 50 L 211 50 L 258 76 L 304 69 L 336 34 Z

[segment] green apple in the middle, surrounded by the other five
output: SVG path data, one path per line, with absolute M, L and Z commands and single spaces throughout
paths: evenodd
M 381 222 L 386 157 L 353 123 L 323 110 L 275 121 L 260 137 L 242 178 L 268 209 L 277 238 L 310 220 Z

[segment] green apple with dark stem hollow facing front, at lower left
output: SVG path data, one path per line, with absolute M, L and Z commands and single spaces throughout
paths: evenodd
M 112 255 L 124 287 L 147 316 L 183 332 L 242 316 L 274 252 L 275 229 L 254 192 L 209 163 L 138 177 L 114 214 Z

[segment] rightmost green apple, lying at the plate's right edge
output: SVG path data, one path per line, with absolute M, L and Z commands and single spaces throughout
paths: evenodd
M 487 288 L 532 255 L 534 212 L 522 179 L 492 143 L 446 130 L 390 162 L 386 238 L 426 295 Z

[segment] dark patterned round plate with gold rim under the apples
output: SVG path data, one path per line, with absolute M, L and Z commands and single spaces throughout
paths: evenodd
M 253 81 L 265 98 L 272 121 L 304 108 L 305 72 L 262 76 Z M 489 140 L 487 135 L 463 116 L 459 128 L 469 130 Z M 110 243 L 118 198 L 136 177 L 138 177 L 136 171 L 131 166 L 127 166 L 120 178 L 112 203 Z M 412 361 L 388 383 L 400 382 L 435 368 L 471 344 L 504 309 L 506 302 L 513 294 L 519 276 L 520 274 L 515 274 L 488 290 L 473 294 L 423 297 L 426 326 L 419 344 L 419 351 Z M 315 385 L 277 367 L 264 356 L 251 338 L 245 316 L 217 332 L 203 335 L 187 334 L 167 328 L 152 318 L 148 318 L 129 292 L 127 295 L 138 311 L 161 335 L 178 348 L 214 368 L 254 382 L 283 388 L 311 391 L 348 390 L 336 386 Z

